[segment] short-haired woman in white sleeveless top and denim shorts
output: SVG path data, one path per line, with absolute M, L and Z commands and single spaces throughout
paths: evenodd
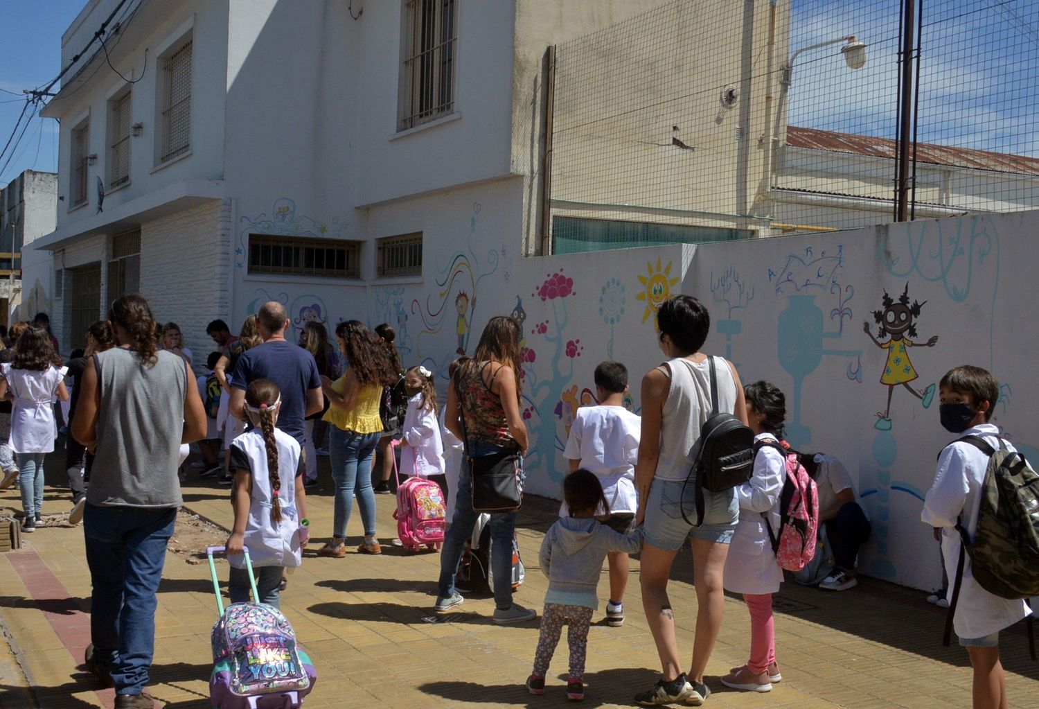
M 662 676 L 636 694 L 643 706 L 685 701 L 700 704 L 710 694 L 703 671 L 721 630 L 725 596 L 722 573 L 740 507 L 735 490 L 703 491 L 703 519 L 693 526 L 684 510 L 696 509 L 692 477 L 700 426 L 711 416 L 711 372 L 718 385 L 719 413 L 744 423 L 747 412 L 736 367 L 700 351 L 711 330 L 707 308 L 690 295 L 665 300 L 657 313 L 658 343 L 668 361 L 642 377 L 642 435 L 635 467 L 639 492 L 636 524 L 645 522 L 640 557 L 642 607 L 649 623 Z M 693 513 L 695 515 L 695 513 Z M 693 550 L 696 586 L 696 638 L 689 675 L 682 671 L 674 613 L 667 596 L 671 564 L 686 540 Z

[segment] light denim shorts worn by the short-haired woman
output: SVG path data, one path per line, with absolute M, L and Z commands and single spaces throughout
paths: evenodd
M 685 491 L 683 491 L 685 485 Z M 685 510 L 696 522 L 696 484 L 690 480 L 654 479 L 646 500 L 645 541 L 665 551 L 677 551 L 687 539 L 728 544 L 740 519 L 736 489 L 720 493 L 703 491 L 703 524 L 692 526 L 682 518 Z

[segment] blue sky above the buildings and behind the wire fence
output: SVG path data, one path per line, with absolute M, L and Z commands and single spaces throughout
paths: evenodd
M 1039 157 L 1039 2 L 924 2 L 920 139 Z M 3 4 L 0 147 L 24 104 L 22 89 L 38 86 L 60 71 L 61 34 L 84 4 Z M 794 72 L 790 125 L 894 137 L 899 1 L 794 0 L 791 24 L 792 50 L 854 33 L 870 45 L 870 58 L 853 72 L 834 47 L 801 55 Z M 23 169 L 56 166 L 57 124 L 34 117 L 0 174 L 0 185 Z

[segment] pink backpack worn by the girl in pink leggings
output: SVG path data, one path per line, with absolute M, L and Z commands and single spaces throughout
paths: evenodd
M 787 480 L 779 495 L 779 531 L 774 532 L 768 513 L 763 513 L 772 541 L 776 563 L 787 571 L 801 571 L 816 555 L 819 531 L 819 494 L 816 481 L 785 443 L 763 441 L 754 445 L 754 455 L 764 447 L 775 448 L 787 461 Z

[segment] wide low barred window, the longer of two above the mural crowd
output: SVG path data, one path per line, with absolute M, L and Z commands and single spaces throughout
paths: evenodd
M 359 256 L 357 241 L 249 234 L 249 273 L 355 279 Z

